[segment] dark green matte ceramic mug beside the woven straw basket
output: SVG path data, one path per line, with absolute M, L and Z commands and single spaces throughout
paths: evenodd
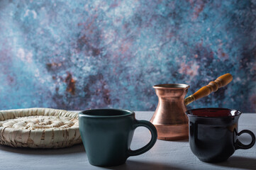
M 140 149 L 131 150 L 135 128 L 144 126 L 151 140 Z M 133 111 L 93 109 L 79 113 L 79 131 L 89 163 L 95 166 L 124 164 L 130 156 L 147 152 L 157 141 L 157 130 L 146 120 L 136 120 Z

